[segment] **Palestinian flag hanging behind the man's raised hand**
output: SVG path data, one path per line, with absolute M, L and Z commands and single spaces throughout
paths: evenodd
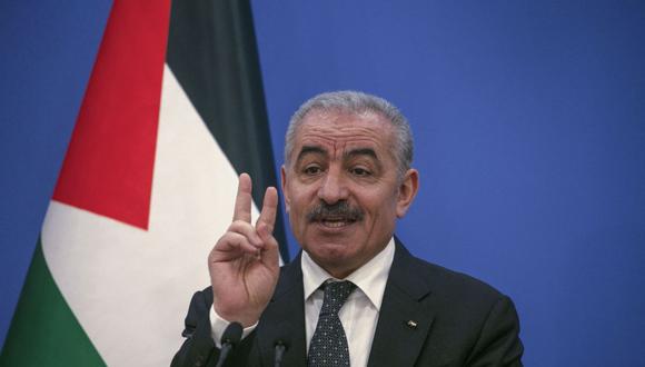
M 276 177 L 249 1 L 116 0 L 0 366 L 168 366 L 242 171 L 257 206 Z

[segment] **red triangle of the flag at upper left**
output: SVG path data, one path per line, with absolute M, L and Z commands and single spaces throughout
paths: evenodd
M 169 17 L 169 0 L 115 1 L 54 200 L 148 228 Z

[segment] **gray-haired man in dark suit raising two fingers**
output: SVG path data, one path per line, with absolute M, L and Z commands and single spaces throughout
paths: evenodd
M 302 251 L 278 268 L 277 191 L 255 225 L 239 178 L 234 221 L 209 255 L 173 366 L 215 365 L 231 321 L 230 366 L 522 366 L 513 302 L 492 287 L 413 257 L 394 237 L 417 190 L 413 139 L 389 102 L 319 95 L 291 118 L 281 184 Z M 279 351 L 278 351 L 279 353 Z

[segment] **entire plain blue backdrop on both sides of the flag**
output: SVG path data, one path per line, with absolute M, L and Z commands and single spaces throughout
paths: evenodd
M 109 11 L 32 2 L 0 6 L 0 340 Z M 252 6 L 276 157 L 315 93 L 391 100 L 421 172 L 413 252 L 508 294 L 527 366 L 643 365 L 645 3 Z

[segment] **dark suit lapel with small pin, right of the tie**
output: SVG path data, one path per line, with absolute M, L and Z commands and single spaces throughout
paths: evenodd
M 395 258 L 371 344 L 369 367 L 414 366 L 434 318 L 428 313 L 427 279 L 415 271 L 415 258 L 395 240 Z

